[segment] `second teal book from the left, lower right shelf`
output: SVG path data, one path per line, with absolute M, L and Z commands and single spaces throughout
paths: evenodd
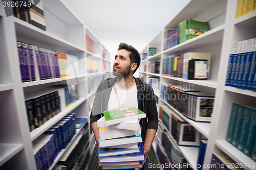
M 237 122 L 236 122 L 236 126 L 234 127 L 234 133 L 233 133 L 233 138 L 232 138 L 232 145 L 234 147 L 237 147 L 237 144 L 238 144 L 238 137 L 240 135 L 239 133 L 240 133 L 241 125 L 242 125 L 243 110 L 244 110 L 244 106 L 239 105 L 238 114 L 237 114 Z

